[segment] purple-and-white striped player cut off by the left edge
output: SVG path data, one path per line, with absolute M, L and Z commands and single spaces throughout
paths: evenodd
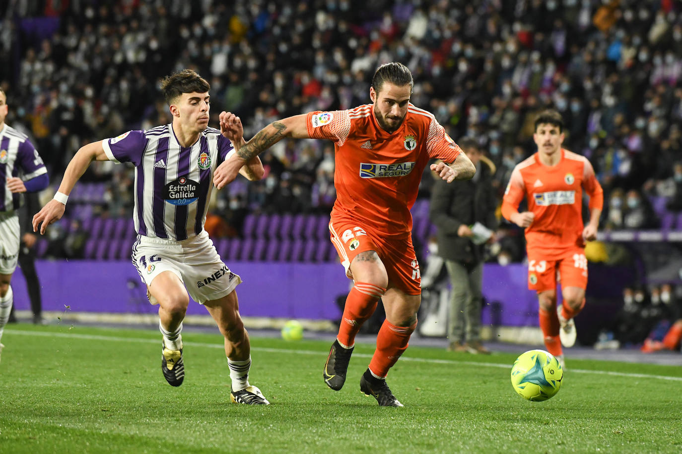
M 7 96 L 0 88 L 0 340 L 12 311 L 10 280 L 19 257 L 21 193 L 37 192 L 49 183 L 47 169 L 29 138 L 5 125 Z M 0 353 L 3 344 L 0 343 Z

